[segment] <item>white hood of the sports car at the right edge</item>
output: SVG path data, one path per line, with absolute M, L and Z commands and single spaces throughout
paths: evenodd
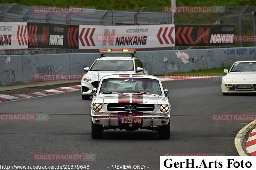
M 256 72 L 236 72 L 226 75 L 227 82 L 246 83 L 256 82 Z

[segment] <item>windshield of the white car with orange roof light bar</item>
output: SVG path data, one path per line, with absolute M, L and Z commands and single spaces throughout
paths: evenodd
M 132 60 L 97 60 L 91 71 L 132 71 Z

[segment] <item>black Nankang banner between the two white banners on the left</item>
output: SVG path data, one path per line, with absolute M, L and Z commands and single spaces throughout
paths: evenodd
M 78 48 L 76 25 L 28 22 L 28 48 Z

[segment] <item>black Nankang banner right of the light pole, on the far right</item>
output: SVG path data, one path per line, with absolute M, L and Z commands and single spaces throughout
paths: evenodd
M 234 24 L 175 24 L 176 46 L 233 46 Z

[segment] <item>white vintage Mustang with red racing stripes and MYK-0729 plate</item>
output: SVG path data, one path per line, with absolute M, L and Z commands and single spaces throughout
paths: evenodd
M 156 76 L 116 74 L 104 76 L 91 102 L 92 138 L 106 129 L 157 130 L 170 138 L 171 104 L 167 89 Z

